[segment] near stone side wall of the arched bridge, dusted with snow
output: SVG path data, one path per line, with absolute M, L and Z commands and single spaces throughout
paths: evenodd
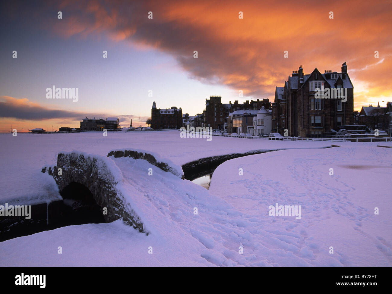
M 72 182 L 89 188 L 102 211 L 107 208 L 107 214 L 103 213 L 106 222 L 122 218 L 140 232 L 149 233 L 126 201 L 129 195 L 123 195 L 120 188 L 122 173 L 112 159 L 79 151 L 63 152 L 58 154 L 56 166 L 44 167 L 42 172 L 53 176 L 60 191 Z

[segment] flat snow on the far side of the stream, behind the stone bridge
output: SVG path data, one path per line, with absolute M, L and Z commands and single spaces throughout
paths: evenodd
M 180 138 L 177 130 L 162 132 L 82 132 L 65 134 L 0 134 L 0 202 L 38 204 L 60 197 L 54 181 L 40 172 L 53 166 L 59 152 L 83 151 L 106 156 L 112 149 L 134 148 L 155 152 L 178 165 L 209 157 L 258 149 L 303 148 L 306 142 L 276 142 L 242 138 Z M 347 144 L 347 143 L 346 143 Z M 310 147 L 330 146 L 314 142 Z

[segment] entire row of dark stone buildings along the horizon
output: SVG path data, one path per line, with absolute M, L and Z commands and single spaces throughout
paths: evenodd
M 344 90 L 344 99 L 323 99 L 317 96 L 318 88 L 335 93 Z M 249 133 L 266 135 L 271 132 L 292 137 L 314 137 L 334 135 L 343 127 L 362 125 L 372 129 L 388 130 L 392 112 L 391 102 L 387 107 L 362 107 L 354 112 L 354 87 L 344 62 L 340 72 L 315 68 L 309 74 L 302 66 L 275 88 L 274 102 L 269 99 L 246 100 L 239 103 L 223 103 L 221 96 L 205 99 L 203 113 L 189 116 L 181 107 L 157 108 L 155 101 L 151 108 L 151 128 L 168 129 L 210 127 L 227 133 Z M 151 129 L 149 128 L 149 129 Z M 61 128 L 60 128 L 61 129 Z M 80 122 L 80 131 L 121 130 L 118 117 L 88 119 Z M 129 129 L 132 128 L 132 123 Z M 78 130 L 78 131 L 79 131 Z

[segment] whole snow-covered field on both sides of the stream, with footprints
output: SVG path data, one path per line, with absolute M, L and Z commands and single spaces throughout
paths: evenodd
M 40 178 L 40 169 L 54 165 L 61 151 L 106 156 L 112 149 L 138 148 L 182 165 L 212 155 L 288 150 L 224 162 L 214 171 L 209 190 L 147 161 L 111 157 L 151 234 L 138 233 L 121 220 L 62 227 L 0 242 L 0 265 L 392 265 L 392 148 L 377 147 L 392 146 L 390 142 L 315 149 L 330 143 L 228 137 L 207 141 L 180 138 L 179 133 L 0 135 L 0 200 L 25 197 L 37 202 L 48 200 L 48 192 L 58 197 L 54 180 Z M 148 168 L 153 176 L 145 172 Z M 275 203 L 301 205 L 301 218 L 269 216 Z

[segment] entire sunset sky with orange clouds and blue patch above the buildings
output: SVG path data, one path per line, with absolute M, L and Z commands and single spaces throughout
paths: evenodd
M 153 101 L 189 115 L 211 95 L 273 102 L 300 65 L 346 62 L 354 110 L 392 100 L 392 1 L 2 3 L 0 132 L 78 128 L 84 117 L 144 125 Z M 78 88 L 78 101 L 48 99 L 53 86 Z

